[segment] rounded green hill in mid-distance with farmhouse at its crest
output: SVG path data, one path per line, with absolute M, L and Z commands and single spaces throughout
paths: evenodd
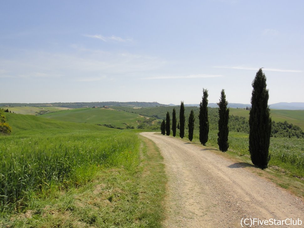
M 135 128 L 138 125 L 138 120 L 144 120 L 144 117 L 135 113 L 104 108 L 72 109 L 47 113 L 41 115 L 41 117 L 78 123 L 112 124 L 117 127 L 126 127 L 129 125 Z

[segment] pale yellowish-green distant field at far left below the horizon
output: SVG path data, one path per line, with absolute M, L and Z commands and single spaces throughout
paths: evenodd
M 70 108 L 56 107 L 56 106 L 46 106 L 46 107 L 30 107 L 30 106 L 15 106 L 15 107 L 0 107 L 3 109 L 8 109 L 11 112 L 24 115 L 37 115 L 40 111 L 62 111 L 69 110 Z

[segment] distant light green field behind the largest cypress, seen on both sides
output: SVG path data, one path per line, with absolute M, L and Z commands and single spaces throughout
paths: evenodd
M 249 111 L 245 109 L 230 108 L 229 114 L 249 118 Z M 270 117 L 275 122 L 287 121 L 288 123 L 295 124 L 304 131 L 304 110 L 271 109 Z

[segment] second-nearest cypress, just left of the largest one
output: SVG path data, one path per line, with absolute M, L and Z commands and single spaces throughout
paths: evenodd
M 227 108 L 227 105 L 228 101 L 226 101 L 225 90 L 222 90 L 220 102 L 218 102 L 218 148 L 223 152 L 227 151 L 229 148 L 229 108 Z

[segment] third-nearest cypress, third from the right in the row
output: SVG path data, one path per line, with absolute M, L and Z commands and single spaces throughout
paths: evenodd
M 202 101 L 200 103 L 200 142 L 206 146 L 209 133 L 209 120 L 208 120 L 208 90 L 203 89 Z

